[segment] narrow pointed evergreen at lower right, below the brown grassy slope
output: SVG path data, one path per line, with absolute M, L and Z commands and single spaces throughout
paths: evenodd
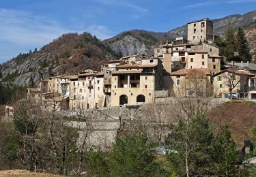
M 225 125 L 221 134 L 213 142 L 213 159 L 216 162 L 215 175 L 234 176 L 236 165 L 240 163 L 240 155 L 236 143 L 231 140 L 229 127 Z

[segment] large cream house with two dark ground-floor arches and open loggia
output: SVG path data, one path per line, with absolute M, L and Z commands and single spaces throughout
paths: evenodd
M 142 59 L 141 64 L 116 67 L 111 78 L 111 106 L 154 102 L 154 91 L 162 89 L 162 61 Z

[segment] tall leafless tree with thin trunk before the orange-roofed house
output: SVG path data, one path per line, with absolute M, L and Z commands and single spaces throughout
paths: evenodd
M 201 69 L 190 69 L 186 74 L 182 86 L 175 91 L 175 114 L 177 121 L 182 119 L 186 123 L 186 131 L 182 140 L 184 142 L 184 159 L 186 163 L 186 176 L 189 176 L 189 158 L 193 150 L 190 144 L 190 122 L 197 114 L 205 114 L 211 103 L 212 86 L 210 80 Z M 174 147 L 175 148 L 175 147 Z

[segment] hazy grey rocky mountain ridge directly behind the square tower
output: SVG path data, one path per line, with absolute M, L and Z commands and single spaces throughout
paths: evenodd
M 256 22 L 256 11 L 248 12 L 244 15 L 236 14 L 231 16 L 226 16 L 225 18 L 215 19 L 214 21 L 214 33 L 221 37 L 224 37 L 227 25 L 229 22 L 234 28 L 245 27 L 246 29 L 253 27 L 254 22 Z M 255 27 L 255 25 L 254 25 Z M 123 33 L 119 33 L 111 39 L 104 40 L 106 45 L 118 52 L 119 55 L 125 56 L 128 54 L 145 53 L 152 54 L 154 46 L 159 42 L 165 41 L 167 39 L 175 39 L 175 37 L 186 37 L 187 35 L 187 25 L 182 27 L 177 27 L 167 33 L 154 33 L 151 31 L 144 30 L 131 30 Z M 248 37 L 249 43 L 252 37 Z M 256 51 L 253 45 L 250 45 L 251 49 Z

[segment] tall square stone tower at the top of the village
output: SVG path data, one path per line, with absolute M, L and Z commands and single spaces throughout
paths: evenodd
M 213 21 L 209 18 L 188 22 L 188 42 L 199 44 L 199 42 L 211 41 L 213 35 Z

